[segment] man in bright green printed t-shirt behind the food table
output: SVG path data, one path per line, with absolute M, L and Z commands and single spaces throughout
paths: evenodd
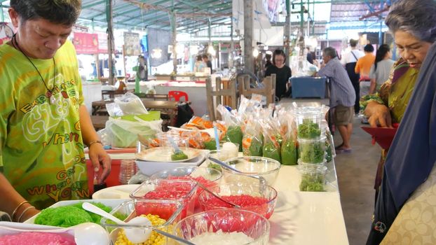
M 0 46 L 0 211 L 22 222 L 60 200 L 90 198 L 84 146 L 102 183 L 111 161 L 83 104 L 67 37 L 81 0 L 11 0 L 17 29 Z

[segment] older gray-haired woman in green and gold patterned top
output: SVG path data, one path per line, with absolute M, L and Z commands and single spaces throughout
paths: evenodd
M 389 79 L 381 85 L 379 93 L 365 97 L 367 100 L 362 102 L 364 108 L 366 105 L 364 113 L 372 127 L 392 127 L 392 123 L 401 122 L 414 90 L 421 64 L 427 55 L 428 48 L 436 40 L 436 33 L 429 31 L 436 28 L 436 22 L 427 21 L 436 21 L 436 16 L 425 10 L 423 2 L 426 1 L 399 1 L 390 8 L 391 11 L 386 17 L 386 25 L 394 34 L 395 45 L 401 57 L 395 62 Z M 435 2 L 430 1 L 430 3 L 432 6 Z M 418 15 L 421 12 L 423 14 Z M 374 184 L 376 198 L 387 154 L 388 149 L 383 149 Z

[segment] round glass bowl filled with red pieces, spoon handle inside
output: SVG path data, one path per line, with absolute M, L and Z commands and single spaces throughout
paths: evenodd
M 275 203 L 277 202 L 277 191 L 264 184 L 222 184 L 215 193 L 226 201 L 238 204 L 239 209 L 253 211 L 265 218 L 270 218 L 273 215 Z M 231 209 L 230 204 L 222 202 L 205 191 L 200 194 L 198 200 L 203 211 Z

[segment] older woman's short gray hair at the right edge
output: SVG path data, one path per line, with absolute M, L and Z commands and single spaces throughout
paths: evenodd
M 421 41 L 436 41 L 436 1 L 400 0 L 390 6 L 385 20 L 394 34 L 404 31 Z

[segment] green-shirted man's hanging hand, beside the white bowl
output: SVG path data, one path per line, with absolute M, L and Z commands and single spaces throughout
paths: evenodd
M 102 183 L 109 173 L 111 172 L 111 158 L 107 155 L 106 151 L 101 144 L 95 143 L 89 147 L 89 159 L 94 167 L 94 172 L 100 172 L 100 165 L 102 166 L 102 172 L 98 176 L 97 184 Z

